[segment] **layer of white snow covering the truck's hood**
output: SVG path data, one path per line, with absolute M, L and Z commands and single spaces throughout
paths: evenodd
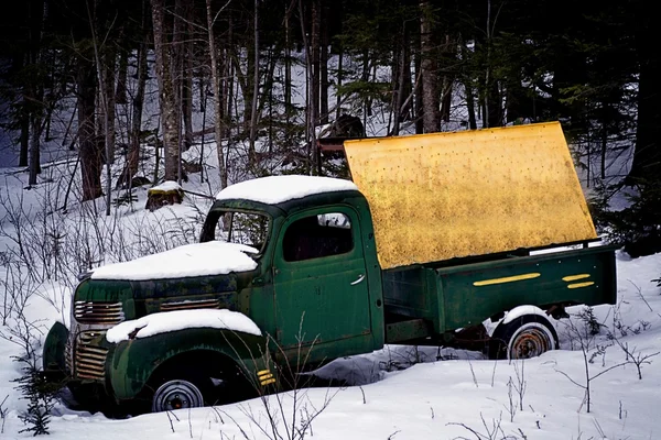
M 147 255 L 124 263 L 94 270 L 93 279 L 162 279 L 223 275 L 252 271 L 257 263 L 247 254 L 254 248 L 245 244 L 210 241 L 186 244 L 170 251 Z

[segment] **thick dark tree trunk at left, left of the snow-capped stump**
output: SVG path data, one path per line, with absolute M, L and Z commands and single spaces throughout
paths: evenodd
M 97 84 L 94 55 L 86 53 L 78 56 L 77 92 L 78 92 L 78 145 L 80 148 L 80 175 L 83 179 L 83 201 L 94 200 L 102 196 L 101 189 L 101 150 L 96 140 L 96 94 Z

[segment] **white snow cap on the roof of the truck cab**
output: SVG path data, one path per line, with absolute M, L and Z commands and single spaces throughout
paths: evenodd
M 228 186 L 216 200 L 246 199 L 262 204 L 282 204 L 321 193 L 358 190 L 350 180 L 317 176 L 269 176 Z

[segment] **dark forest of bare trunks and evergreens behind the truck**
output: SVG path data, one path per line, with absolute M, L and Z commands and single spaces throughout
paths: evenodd
M 360 119 L 354 136 L 560 120 L 600 229 L 651 253 L 661 249 L 659 14 L 642 0 L 9 2 L 0 138 L 15 155 L 2 165 L 37 185 L 42 155 L 59 151 L 74 165 L 69 189 L 80 201 L 105 196 L 109 215 L 113 190 L 204 179 L 202 155 L 185 152 L 205 136 L 221 145 L 206 167 L 218 190 L 277 170 L 334 173 L 316 138 L 347 134 L 343 114 Z M 301 70 L 304 89 L 293 86 Z M 622 188 L 629 208 L 605 212 Z

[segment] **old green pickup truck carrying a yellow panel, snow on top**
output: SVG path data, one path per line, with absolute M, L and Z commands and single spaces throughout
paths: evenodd
M 388 343 L 535 356 L 559 348 L 566 306 L 615 304 L 615 250 L 593 245 L 560 124 L 344 148 L 351 180 L 229 186 L 201 243 L 84 277 L 46 374 L 80 402 L 162 411 Z

